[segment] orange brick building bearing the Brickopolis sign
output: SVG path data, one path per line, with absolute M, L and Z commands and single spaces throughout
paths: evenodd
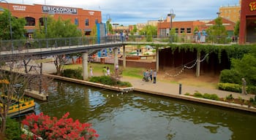
M 44 19 L 48 15 L 56 20 L 59 17 L 62 20 L 71 20 L 85 35 L 90 35 L 96 23 L 102 22 L 101 12 L 95 10 L 41 4 L 28 5 L 10 3 L 0 3 L 0 7 L 9 9 L 12 16 L 16 18 L 26 19 L 25 29 L 27 31 L 27 37 L 34 33 L 34 29 L 38 27 L 38 24 L 41 26 L 44 25 Z

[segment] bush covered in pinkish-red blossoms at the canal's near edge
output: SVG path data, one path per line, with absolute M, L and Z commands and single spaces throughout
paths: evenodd
M 22 139 L 81 139 L 91 140 L 97 139 L 99 134 L 91 128 L 89 123 L 80 123 L 78 120 L 73 121 L 72 118 L 67 118 L 69 112 L 64 114 L 61 119 L 49 117 L 43 113 L 38 115 L 29 114 L 22 121 L 23 125 L 29 127 L 29 131 L 34 133 L 34 136 L 23 134 Z

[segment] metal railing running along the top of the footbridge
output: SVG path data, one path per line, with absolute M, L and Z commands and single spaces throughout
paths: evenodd
M 256 42 L 255 36 L 247 36 L 247 39 Z M 230 44 L 237 43 L 237 37 L 230 36 L 198 36 L 195 35 L 175 35 L 175 36 L 105 36 L 97 37 L 74 37 L 59 39 L 21 39 L 21 40 L 0 40 L 0 51 L 26 50 L 38 48 L 55 48 L 67 46 L 80 46 L 91 44 L 106 44 L 116 42 L 170 42 L 170 43 L 212 43 Z

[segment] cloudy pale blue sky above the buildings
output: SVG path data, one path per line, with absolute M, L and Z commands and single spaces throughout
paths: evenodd
M 211 20 L 217 18 L 219 7 L 239 4 L 239 0 L 6 0 L 15 4 L 47 4 L 63 7 L 99 10 L 102 22 L 107 18 L 112 23 L 128 26 L 146 23 L 148 20 L 166 18 L 173 9 L 181 20 Z

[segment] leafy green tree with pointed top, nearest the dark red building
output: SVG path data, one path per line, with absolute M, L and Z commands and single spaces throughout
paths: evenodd
M 214 43 L 224 43 L 227 36 L 225 26 L 222 25 L 222 18 L 216 18 L 214 26 L 209 27 L 206 32 L 208 34 L 208 41 Z

